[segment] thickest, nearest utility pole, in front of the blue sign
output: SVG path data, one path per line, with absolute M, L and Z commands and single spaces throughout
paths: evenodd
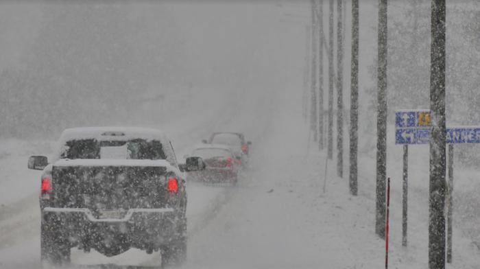
M 445 0 L 431 1 L 429 268 L 445 268 Z

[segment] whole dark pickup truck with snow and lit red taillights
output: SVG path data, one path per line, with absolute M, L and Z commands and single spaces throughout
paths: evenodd
M 187 193 L 182 172 L 204 169 L 201 158 L 178 165 L 163 132 L 148 128 L 64 130 L 43 170 L 40 211 L 43 264 L 64 265 L 71 248 L 108 257 L 129 248 L 160 250 L 163 264 L 180 264 L 187 248 Z

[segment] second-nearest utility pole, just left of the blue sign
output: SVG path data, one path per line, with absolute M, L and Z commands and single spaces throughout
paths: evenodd
M 379 0 L 378 112 L 376 121 L 375 232 L 385 238 L 385 180 L 387 177 L 387 0 Z

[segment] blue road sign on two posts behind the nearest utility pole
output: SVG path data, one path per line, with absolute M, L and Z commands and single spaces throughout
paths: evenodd
M 397 110 L 395 113 L 395 143 L 403 145 L 403 237 L 402 245 L 407 246 L 407 195 L 408 195 L 408 145 L 427 144 L 430 141 L 430 110 Z M 448 196 L 446 261 L 452 262 L 453 222 L 453 144 L 480 143 L 480 126 L 459 126 L 446 128 L 448 143 Z

